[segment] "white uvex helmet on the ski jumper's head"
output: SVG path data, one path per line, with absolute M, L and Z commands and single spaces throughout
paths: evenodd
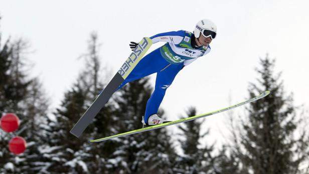
M 196 24 L 193 33 L 196 38 L 199 38 L 202 33 L 206 38 L 211 37 L 211 39 L 215 39 L 217 35 L 217 26 L 212 21 L 203 19 Z

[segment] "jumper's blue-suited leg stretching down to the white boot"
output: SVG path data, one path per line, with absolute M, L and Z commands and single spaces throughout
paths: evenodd
M 144 116 L 145 123 L 148 123 L 150 115 L 158 113 L 159 106 L 164 98 L 167 88 L 172 84 L 177 73 L 182 69 L 182 64 L 171 64 L 163 71 L 159 71 L 156 79 L 155 90 L 147 101 L 146 111 Z

